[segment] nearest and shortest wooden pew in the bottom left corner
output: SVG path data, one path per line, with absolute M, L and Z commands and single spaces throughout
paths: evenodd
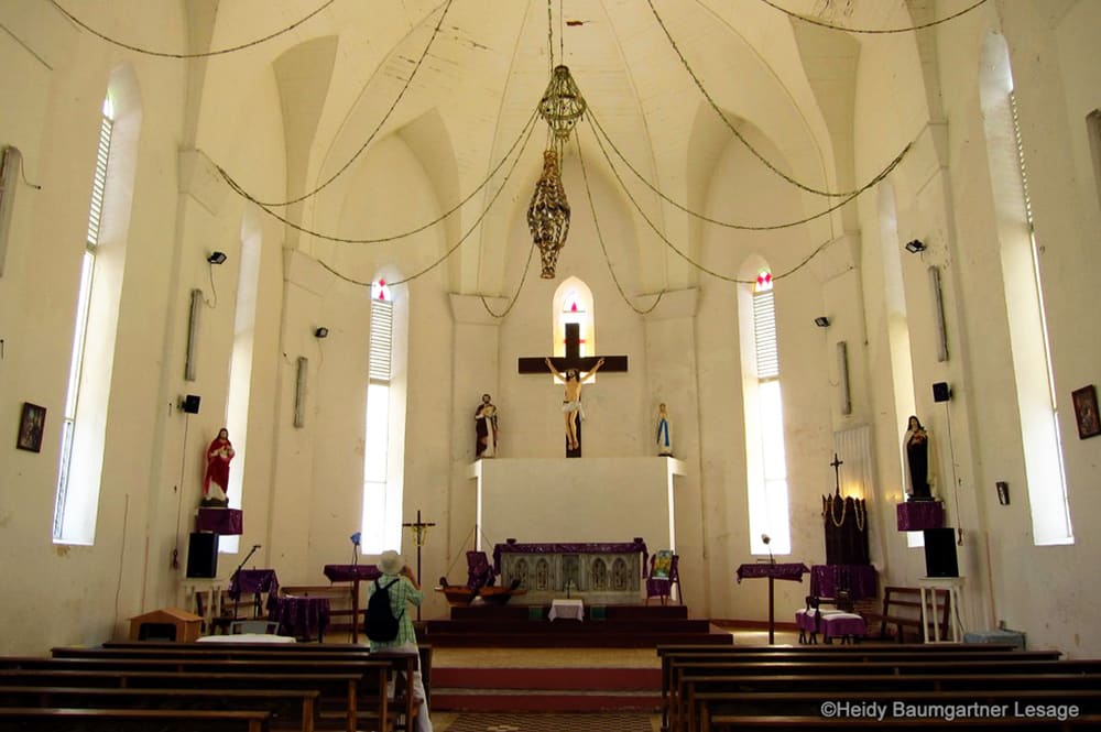
M 153 726 L 155 725 L 155 726 Z M 0 729 L 33 732 L 265 732 L 268 712 L 186 709 L 0 708 Z

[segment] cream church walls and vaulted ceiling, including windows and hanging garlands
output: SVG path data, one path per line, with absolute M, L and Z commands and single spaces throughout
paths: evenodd
M 1101 656 L 1101 3 L 0 25 L 0 653 L 195 611 L 203 504 L 241 520 L 210 579 L 396 549 L 425 620 L 467 551 L 641 539 L 693 616 L 761 627 L 754 567 L 860 564 L 874 600 L 941 529 L 963 629 Z

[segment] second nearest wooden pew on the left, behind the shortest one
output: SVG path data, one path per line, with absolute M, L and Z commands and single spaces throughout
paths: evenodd
M 317 689 L 0 686 L 0 708 L 259 710 L 270 713 L 273 730 L 314 732 L 319 696 Z

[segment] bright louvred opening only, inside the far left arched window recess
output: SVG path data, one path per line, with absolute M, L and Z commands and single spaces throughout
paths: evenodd
M 80 387 L 88 343 L 91 289 L 96 272 L 96 254 L 99 250 L 100 227 L 103 220 L 108 161 L 111 155 L 111 134 L 113 129 L 115 107 L 111 103 L 110 95 L 107 95 L 103 98 L 99 144 L 96 151 L 96 172 L 91 182 L 91 204 L 88 210 L 88 227 L 80 264 L 80 284 L 77 289 L 73 351 L 69 359 L 68 386 L 65 392 L 65 411 L 62 414 L 62 447 L 57 499 L 54 507 L 54 540 L 74 544 L 91 544 L 95 539 L 96 504 L 99 498 L 98 469 L 95 471 L 95 474 L 83 469 L 91 467 L 89 465 L 92 457 L 89 455 L 91 449 L 89 443 L 91 440 L 85 440 L 86 449 L 81 451 L 78 449 L 80 446 L 76 443 L 76 436 L 77 416 L 81 414 Z M 76 456 L 75 460 L 74 456 Z M 73 480 L 74 463 L 77 463 L 81 468 L 79 482 Z

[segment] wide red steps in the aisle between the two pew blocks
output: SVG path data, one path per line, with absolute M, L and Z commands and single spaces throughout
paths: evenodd
M 432 709 L 655 712 L 661 684 L 658 668 L 435 668 Z

